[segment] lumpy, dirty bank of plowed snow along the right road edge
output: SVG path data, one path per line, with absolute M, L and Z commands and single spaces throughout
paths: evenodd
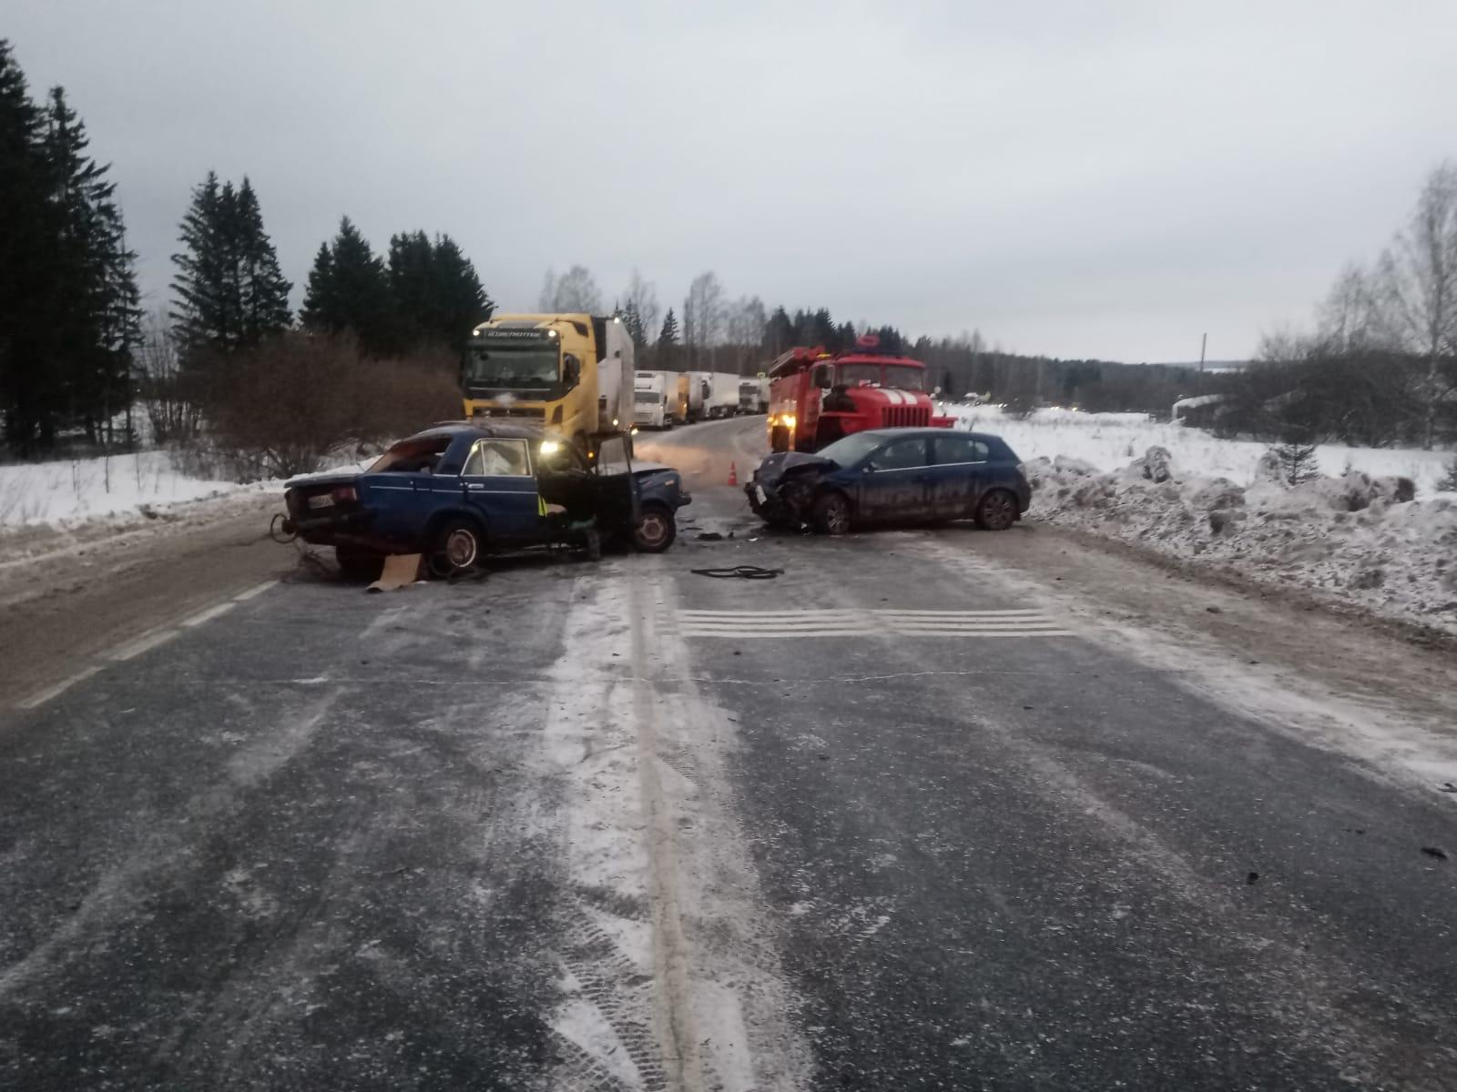
M 1030 515 L 1048 523 L 1457 633 L 1457 502 L 1416 501 L 1407 478 L 1352 472 L 1289 485 L 1268 453 L 1254 480 L 1238 485 L 1185 473 L 1163 447 L 1112 473 L 1061 456 L 1024 469 Z

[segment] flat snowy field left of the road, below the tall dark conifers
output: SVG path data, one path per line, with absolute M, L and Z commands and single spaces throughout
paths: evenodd
M 0 527 L 68 526 L 245 488 L 252 486 L 186 478 L 166 451 L 12 463 L 0 466 Z

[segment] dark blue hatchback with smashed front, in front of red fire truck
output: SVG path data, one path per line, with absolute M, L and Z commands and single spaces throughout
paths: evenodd
M 844 534 L 855 526 L 975 520 L 1007 530 L 1032 504 L 1001 437 L 949 428 L 874 428 L 819 450 L 779 451 L 745 486 L 768 524 Z

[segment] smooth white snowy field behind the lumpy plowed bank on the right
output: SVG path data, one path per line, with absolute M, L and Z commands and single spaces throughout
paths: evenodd
M 1218 440 L 1199 428 L 1151 421 L 1145 414 L 1080 414 L 1072 409 L 1039 409 L 1016 421 L 995 406 L 943 406 L 959 418 L 960 428 L 995 432 L 1023 459 L 1067 456 L 1091 463 L 1099 470 L 1116 470 L 1150 447 L 1163 447 L 1174 464 L 1205 478 L 1228 478 L 1240 485 L 1254 480 L 1254 467 L 1269 444 Z M 1391 447 L 1342 447 L 1324 444 L 1316 450 L 1320 472 L 1332 478 L 1359 470 L 1372 478 L 1399 475 L 1416 483 L 1416 495 L 1431 496 L 1453 451 L 1421 451 Z

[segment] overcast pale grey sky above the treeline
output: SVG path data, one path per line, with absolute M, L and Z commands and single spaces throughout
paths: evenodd
M 296 298 L 347 213 L 449 232 L 504 307 L 548 266 L 680 306 L 826 306 L 1008 349 L 1244 357 L 1457 157 L 1457 3 L 19 0 L 165 303 L 208 169 Z

